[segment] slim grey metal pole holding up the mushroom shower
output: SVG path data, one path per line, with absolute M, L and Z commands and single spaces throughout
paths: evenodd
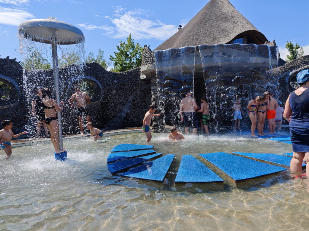
M 59 73 L 58 73 L 58 55 L 57 45 L 52 43 L 52 55 L 53 55 L 53 75 L 54 75 L 54 86 L 56 102 L 60 106 L 60 90 L 59 90 Z M 59 148 L 63 148 L 62 143 L 62 125 L 61 125 L 61 111 L 57 111 L 58 116 L 58 129 L 59 129 Z

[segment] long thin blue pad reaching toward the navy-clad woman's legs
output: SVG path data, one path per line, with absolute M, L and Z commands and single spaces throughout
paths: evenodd
M 290 166 L 291 157 L 289 156 L 281 156 L 273 153 L 250 153 L 250 152 L 232 152 L 242 156 L 248 156 L 258 160 L 264 160 L 273 164 L 282 164 L 286 166 Z M 305 166 L 305 164 L 303 164 Z

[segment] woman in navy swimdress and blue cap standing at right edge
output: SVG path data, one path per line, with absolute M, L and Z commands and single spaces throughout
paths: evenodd
M 300 87 L 286 100 L 283 117 L 290 122 L 290 137 L 293 147 L 291 172 L 302 176 L 303 159 L 307 161 L 306 173 L 309 174 L 309 70 L 297 74 Z

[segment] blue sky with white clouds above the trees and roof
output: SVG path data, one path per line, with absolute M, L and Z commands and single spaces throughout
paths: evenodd
M 56 17 L 78 26 L 85 35 L 86 54 L 99 48 L 113 55 L 129 33 L 141 46 L 154 50 L 184 26 L 209 0 L 0 0 L 0 55 L 22 60 L 17 28 L 32 18 Z M 309 0 L 230 0 L 268 40 L 276 40 L 285 59 L 286 41 L 298 43 L 309 55 Z M 109 59 L 108 59 L 109 61 Z

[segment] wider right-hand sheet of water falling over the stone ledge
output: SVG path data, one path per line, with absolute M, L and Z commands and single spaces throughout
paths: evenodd
M 267 71 L 278 67 L 278 47 L 255 44 L 218 44 L 198 46 L 210 106 L 212 130 L 219 132 L 234 120 L 236 98 L 243 112 L 248 102 L 264 91 L 278 96 L 278 78 Z M 245 115 L 245 113 L 243 114 Z M 244 116 L 249 123 L 248 116 Z

